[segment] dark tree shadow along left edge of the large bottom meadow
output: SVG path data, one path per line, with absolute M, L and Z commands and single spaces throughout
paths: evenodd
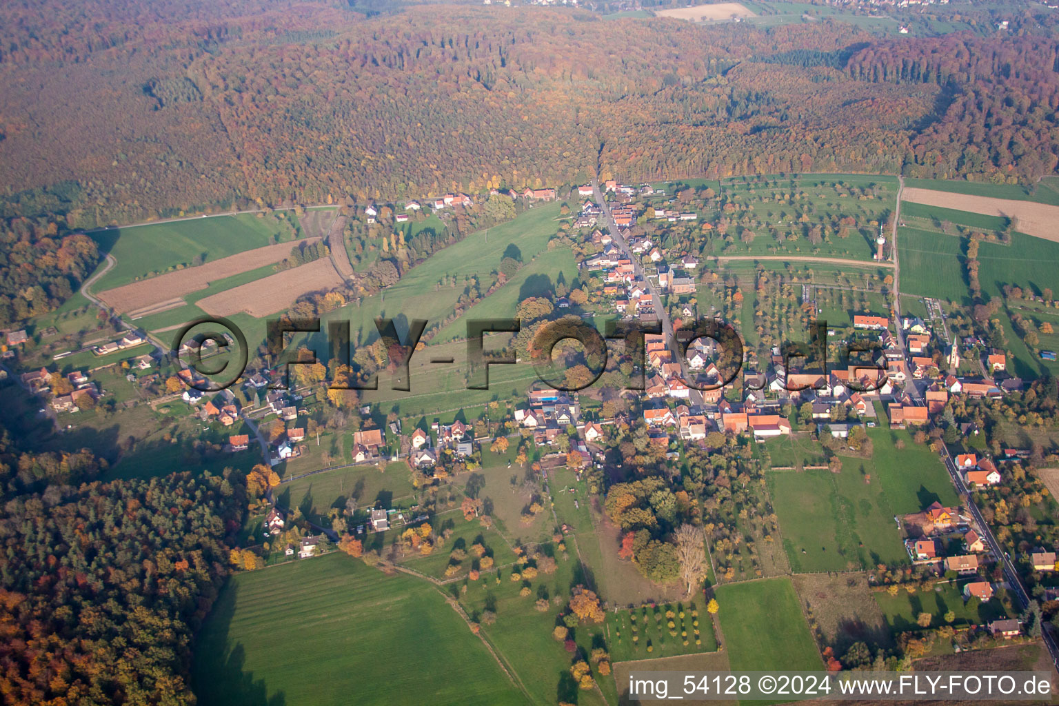
M 245 670 L 243 642 L 229 644 L 237 591 L 230 580 L 203 626 L 195 650 L 192 691 L 200 706 L 286 706 L 283 691 L 269 695 L 265 680 L 255 680 L 253 672 Z

